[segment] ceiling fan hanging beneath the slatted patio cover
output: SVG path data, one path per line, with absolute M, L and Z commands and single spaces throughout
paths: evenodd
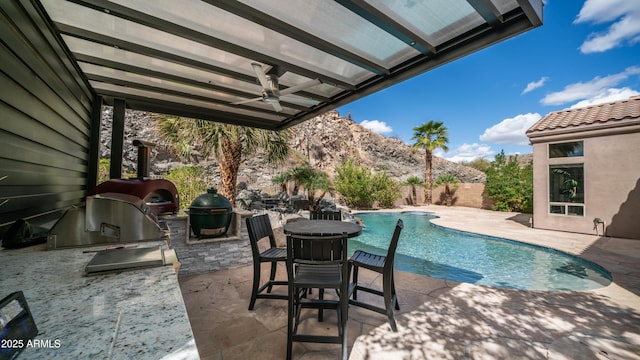
M 249 99 L 249 100 L 234 102 L 232 103 L 233 105 L 240 105 L 240 104 L 245 104 L 252 101 L 262 100 L 263 102 L 273 106 L 273 109 L 275 111 L 281 112 L 282 106 L 280 106 L 280 100 L 294 103 L 294 104 L 306 105 L 306 106 L 313 106 L 319 103 L 319 101 L 316 101 L 316 100 L 302 98 L 299 96 L 288 96 L 288 95 L 293 94 L 296 91 L 300 91 L 302 89 L 306 89 L 306 88 L 321 84 L 322 82 L 320 80 L 313 79 L 313 80 L 304 82 L 302 84 L 295 85 L 295 86 L 286 88 L 284 90 L 280 90 L 280 86 L 278 84 L 278 75 L 265 74 L 265 72 L 262 70 L 262 65 L 258 63 L 251 63 L 251 67 L 253 67 L 253 71 L 256 72 L 258 81 L 262 86 L 262 96 Z

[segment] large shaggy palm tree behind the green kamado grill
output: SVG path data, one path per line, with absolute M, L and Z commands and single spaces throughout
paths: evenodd
M 220 194 L 236 202 L 238 170 L 244 159 L 262 149 L 267 162 L 278 164 L 289 155 L 289 132 L 236 126 L 206 120 L 158 116 L 159 136 L 182 157 L 215 156 L 220 166 Z

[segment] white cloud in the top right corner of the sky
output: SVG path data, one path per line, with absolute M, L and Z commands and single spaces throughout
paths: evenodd
M 604 52 L 640 41 L 640 1 L 587 0 L 574 23 L 613 22 L 606 31 L 591 33 L 580 46 L 584 54 Z

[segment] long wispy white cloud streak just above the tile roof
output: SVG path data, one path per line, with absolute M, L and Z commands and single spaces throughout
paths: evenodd
M 565 86 L 562 91 L 547 94 L 540 102 L 544 105 L 562 105 L 577 100 L 593 98 L 620 84 L 630 76 L 639 74 L 640 67 L 632 66 L 618 74 L 605 77 L 596 76 L 591 81 L 570 84 Z

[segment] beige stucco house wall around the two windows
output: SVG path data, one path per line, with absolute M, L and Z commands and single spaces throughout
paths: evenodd
M 549 158 L 550 143 L 576 140 L 584 141 L 584 156 Z M 549 138 L 533 144 L 533 157 L 534 227 L 596 234 L 594 219 L 600 218 L 607 236 L 640 239 L 640 131 Z M 549 166 L 554 164 L 584 164 L 584 216 L 549 212 Z M 598 231 L 602 235 L 602 225 Z

